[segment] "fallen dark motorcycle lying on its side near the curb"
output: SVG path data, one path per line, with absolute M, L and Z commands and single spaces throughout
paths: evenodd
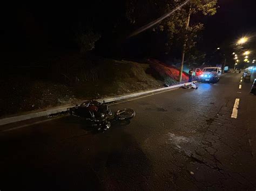
M 86 121 L 92 122 L 98 130 L 107 130 L 111 127 L 112 121 L 128 121 L 135 116 L 132 109 L 120 109 L 112 114 L 109 105 L 102 104 L 95 100 L 83 102 L 79 106 L 68 109 L 70 115 L 84 117 Z

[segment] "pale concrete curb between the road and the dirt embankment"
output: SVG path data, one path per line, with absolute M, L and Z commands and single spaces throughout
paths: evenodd
M 197 82 L 197 81 L 194 81 L 194 82 Z M 159 92 L 159 91 L 176 89 L 176 88 L 179 88 L 181 86 L 184 86 L 184 84 L 191 84 L 191 83 L 192 82 L 181 83 L 181 84 L 177 84 L 177 85 L 166 87 L 166 88 L 159 88 L 159 89 L 143 91 L 143 92 L 140 92 L 140 93 L 134 93 L 134 94 L 118 96 L 118 97 L 103 98 L 103 99 L 100 99 L 100 100 L 97 100 L 97 101 L 99 101 L 101 103 L 109 103 L 109 102 L 114 102 L 114 101 L 118 101 L 118 100 L 124 100 L 124 99 L 131 98 L 131 97 L 138 97 L 138 96 L 145 95 L 145 94 L 156 93 L 156 92 Z M 31 114 L 25 114 L 25 115 L 19 115 L 19 116 L 14 116 L 14 117 L 2 118 L 2 119 L 0 119 L 0 126 L 10 124 L 10 123 L 15 123 L 15 122 L 21 122 L 21 121 L 25 121 L 25 120 L 32 119 L 32 118 L 37 118 L 37 117 L 48 116 L 48 115 L 51 115 L 51 114 L 56 114 L 58 112 L 66 111 L 70 107 L 75 107 L 75 105 L 66 105 L 65 107 L 61 107 L 61 108 L 49 109 L 49 110 L 45 110 L 45 111 L 33 112 Z

